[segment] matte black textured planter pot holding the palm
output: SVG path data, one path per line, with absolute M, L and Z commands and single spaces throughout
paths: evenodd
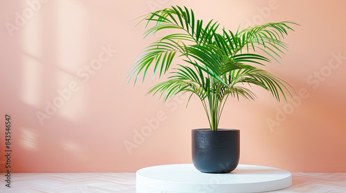
M 192 163 L 206 173 L 228 173 L 239 163 L 239 130 L 192 130 Z

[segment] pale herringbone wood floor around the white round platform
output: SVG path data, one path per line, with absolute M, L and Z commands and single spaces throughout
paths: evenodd
M 346 193 L 346 173 L 293 173 L 293 185 L 275 192 Z M 11 187 L 0 177 L 0 192 L 136 192 L 136 173 L 15 173 Z M 143 189 L 140 193 L 161 193 Z M 137 192 L 137 193 L 139 193 Z M 169 192 L 166 192 L 169 193 Z

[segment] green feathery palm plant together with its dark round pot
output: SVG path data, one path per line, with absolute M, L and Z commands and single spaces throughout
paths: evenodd
M 228 96 L 254 100 L 251 85 L 273 94 L 277 101 L 289 93 L 288 85 L 258 68 L 277 61 L 287 50 L 281 41 L 292 21 L 265 23 L 232 32 L 219 28 L 217 21 L 196 19 L 188 8 L 172 6 L 145 14 L 145 37 L 161 30 L 174 32 L 151 43 L 132 65 L 128 81 L 170 73 L 170 77 L 149 89 L 167 101 L 176 94 L 196 95 L 203 105 L 209 128 L 192 130 L 192 162 L 201 172 L 223 173 L 235 170 L 239 162 L 239 130 L 220 129 L 219 120 Z M 174 29 L 174 30 L 172 30 Z M 256 52 L 260 51 L 260 54 Z M 182 63 L 174 63 L 174 58 Z M 174 66 L 174 67 L 173 67 Z

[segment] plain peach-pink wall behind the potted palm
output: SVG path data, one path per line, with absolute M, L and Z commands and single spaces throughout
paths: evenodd
M 277 103 L 255 89 L 257 101 L 228 101 L 220 126 L 241 130 L 241 163 L 346 172 L 342 0 L 52 0 L 34 4 L 34 10 L 27 1 L 2 1 L 0 152 L 9 113 L 12 172 L 135 172 L 191 163 L 190 130 L 208 126 L 200 102 L 192 101 L 187 110 L 183 97 L 163 105 L 145 95 L 151 81 L 123 84 L 137 54 L 155 39 L 143 40 L 143 26 L 135 28 L 132 20 L 170 5 L 188 6 L 198 18 L 215 18 L 233 30 L 239 23 L 300 23 L 286 38 L 290 50 L 282 65 L 266 68 L 291 83 L 300 100 Z M 53 102 L 60 108 L 46 112 Z M 145 127 L 154 130 L 136 138 Z M 124 145 L 129 142 L 136 143 L 131 154 Z M 0 156 L 0 172 L 5 163 Z

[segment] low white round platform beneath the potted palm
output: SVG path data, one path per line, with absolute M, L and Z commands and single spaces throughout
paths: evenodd
M 170 192 L 266 192 L 291 186 L 291 173 L 274 167 L 239 164 L 227 174 L 199 172 L 192 163 L 145 167 L 136 185 Z

